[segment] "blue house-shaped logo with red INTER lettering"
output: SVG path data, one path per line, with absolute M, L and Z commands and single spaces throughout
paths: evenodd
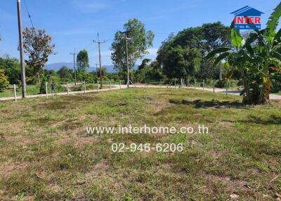
M 234 27 L 237 30 L 261 30 L 261 11 L 244 6 L 231 13 L 234 17 Z

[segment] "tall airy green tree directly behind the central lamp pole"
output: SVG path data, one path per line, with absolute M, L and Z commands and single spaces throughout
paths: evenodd
M 128 41 L 128 55 L 130 70 L 135 65 L 136 60 L 148 54 L 148 48 L 152 46 L 155 37 L 152 31 L 146 32 L 145 25 L 137 19 L 131 19 L 124 25 Z M 126 40 L 125 34 L 116 32 L 115 40 L 112 42 L 111 58 L 115 69 L 119 72 L 126 71 Z M 133 54 L 134 53 L 134 54 Z M 131 56 L 133 54 L 133 56 Z

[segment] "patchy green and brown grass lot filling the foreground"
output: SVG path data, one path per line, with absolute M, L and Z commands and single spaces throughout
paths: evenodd
M 191 89 L 2 102 L 0 200 L 274 200 L 280 109 Z M 129 124 L 204 124 L 209 134 L 86 134 L 86 127 Z M 112 143 L 183 143 L 184 150 L 112 153 Z

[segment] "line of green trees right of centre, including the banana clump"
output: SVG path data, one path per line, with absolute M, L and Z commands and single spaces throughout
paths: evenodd
M 281 5 L 281 4 L 280 4 Z M 128 54 L 131 79 L 240 79 L 244 103 L 268 103 L 271 89 L 280 86 L 281 31 L 276 30 L 281 6 L 278 5 L 268 20 L 265 30 L 240 34 L 233 25 L 221 22 L 191 27 L 171 34 L 162 42 L 157 59 L 144 59 L 138 70 L 136 60 L 143 58 L 152 46 L 154 34 L 146 32 L 136 19 L 124 25 L 129 38 Z M 115 69 L 126 80 L 126 41 L 124 32 L 115 34 L 112 61 Z M 223 79 L 224 78 L 224 79 Z

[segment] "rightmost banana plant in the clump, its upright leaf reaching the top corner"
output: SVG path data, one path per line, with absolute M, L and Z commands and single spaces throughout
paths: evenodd
M 247 49 L 260 75 L 260 93 L 258 103 L 269 103 L 273 74 L 281 72 L 281 29 L 277 30 L 281 17 L 281 3 L 274 9 L 266 24 L 266 29 L 256 30 L 249 37 Z M 257 41 L 256 46 L 252 42 Z

